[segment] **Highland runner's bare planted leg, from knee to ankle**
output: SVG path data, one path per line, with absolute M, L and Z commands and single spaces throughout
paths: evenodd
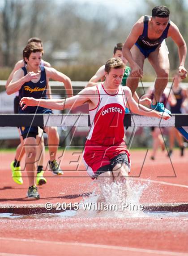
M 24 139 L 24 147 L 26 152 L 26 171 L 29 179 L 29 186 L 35 184 L 35 157 L 36 157 L 36 139 L 34 137 L 29 137 Z

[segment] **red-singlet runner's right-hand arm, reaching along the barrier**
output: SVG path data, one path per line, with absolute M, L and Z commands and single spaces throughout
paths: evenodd
M 131 90 L 126 86 L 124 88 L 125 99 L 128 104 L 128 108 L 131 110 L 132 113 L 147 116 L 147 117 L 158 117 L 162 119 L 169 119 L 170 116 L 166 112 L 158 112 L 155 110 L 151 110 L 150 108 L 146 108 L 145 106 L 138 104 L 133 98 Z

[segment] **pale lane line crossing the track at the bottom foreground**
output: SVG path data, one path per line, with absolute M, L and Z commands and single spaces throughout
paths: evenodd
M 134 247 L 122 247 L 122 246 L 112 246 L 112 245 L 102 245 L 102 244 L 93 244 L 93 243 L 68 243 L 68 242 L 53 242 L 53 241 L 45 241 L 45 240 L 37 240 L 37 239 L 22 239 L 22 238 L 0 238 L 2 240 L 9 241 L 21 241 L 21 242 L 30 242 L 30 243 L 46 243 L 51 245 L 70 245 L 70 246 L 78 246 L 78 247 L 93 247 L 93 248 L 103 248 L 103 249 L 111 249 L 111 250 L 122 250 L 122 251 L 130 251 L 130 252 L 145 252 L 145 253 L 156 253 L 160 255 L 168 255 L 168 256 L 187 256 L 187 253 L 184 252 L 170 252 L 170 251 L 161 251 L 161 250 L 151 250 L 151 249 L 142 249 L 142 248 L 134 248 Z

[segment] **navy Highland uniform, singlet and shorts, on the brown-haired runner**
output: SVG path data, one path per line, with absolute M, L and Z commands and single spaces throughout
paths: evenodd
M 24 71 L 24 76 L 27 74 L 26 67 L 21 68 Z M 19 90 L 19 101 L 23 97 L 33 97 L 35 99 L 46 99 L 46 89 L 47 89 L 47 78 L 45 68 L 40 66 L 41 76 L 37 83 L 32 81 L 24 83 Z M 24 110 L 19 106 L 18 109 L 19 114 L 49 114 L 52 113 L 49 108 L 42 107 L 27 107 Z M 19 127 L 21 131 L 21 135 L 23 139 L 26 137 L 34 137 L 38 135 L 38 127 L 37 126 L 21 126 Z M 41 127 L 42 128 L 42 127 Z

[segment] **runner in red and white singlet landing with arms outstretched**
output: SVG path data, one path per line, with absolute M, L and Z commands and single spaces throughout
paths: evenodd
M 108 177 L 111 182 L 125 180 L 130 171 L 130 155 L 123 141 L 124 112 L 126 106 L 136 114 L 168 119 L 166 112 L 150 111 L 138 106 L 131 90 L 120 83 L 124 76 L 124 63 L 120 58 L 111 58 L 105 64 L 103 84 L 88 87 L 68 99 L 22 98 L 22 109 L 41 106 L 51 109 L 76 108 L 89 103 L 90 132 L 85 143 L 83 159 L 88 174 L 99 182 Z M 106 182 L 106 180 L 103 180 Z

